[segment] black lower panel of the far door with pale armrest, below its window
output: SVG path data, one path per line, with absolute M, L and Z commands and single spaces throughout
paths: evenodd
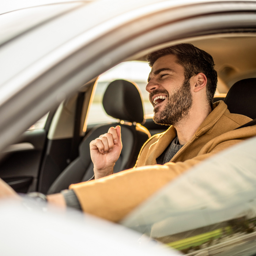
M 46 141 L 45 129 L 26 131 L 17 144 L 4 151 L 0 177 L 17 192 L 37 189 L 37 179 Z

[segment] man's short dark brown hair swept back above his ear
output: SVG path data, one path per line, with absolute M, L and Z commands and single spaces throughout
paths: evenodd
M 185 79 L 202 72 L 207 77 L 206 95 L 207 100 L 212 104 L 217 87 L 217 72 L 214 69 L 212 56 L 204 50 L 198 49 L 192 44 L 178 44 L 165 49 L 149 53 L 146 57 L 150 67 L 162 56 L 174 54 L 177 56 L 177 63 L 184 68 Z

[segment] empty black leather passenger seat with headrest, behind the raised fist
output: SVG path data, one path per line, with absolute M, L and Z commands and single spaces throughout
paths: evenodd
M 107 114 L 120 120 L 120 123 L 114 124 L 121 126 L 123 142 L 121 155 L 114 166 L 114 172 L 117 173 L 135 165 L 140 148 L 150 137 L 150 133 L 145 127 L 139 125 L 144 121 L 144 113 L 141 96 L 135 84 L 126 80 L 111 82 L 103 97 L 103 107 Z M 99 125 L 82 140 L 79 146 L 79 157 L 57 177 L 49 188 L 48 194 L 58 193 L 68 188 L 70 184 L 87 181 L 93 176 L 89 144 L 91 140 L 108 132 L 112 126 L 113 124 Z

